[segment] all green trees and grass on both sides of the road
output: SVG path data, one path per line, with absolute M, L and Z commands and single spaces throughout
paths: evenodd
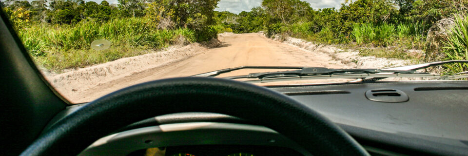
M 265 31 L 325 44 L 361 49 L 361 55 L 423 60 L 406 49 L 467 59 L 467 0 L 345 0 L 340 9 L 314 10 L 301 0 L 263 0 L 239 14 L 213 11 L 219 0 L 6 0 L 20 38 L 39 64 L 60 71 L 145 53 L 171 44 L 184 45 L 216 33 Z M 427 48 L 429 28 L 454 15 L 454 33 L 443 50 Z M 464 20 L 465 19 L 465 20 Z M 107 51 L 91 50 L 94 39 L 111 40 Z M 444 40 L 444 39 L 443 39 Z M 442 42 L 442 41 L 440 41 Z M 434 61 L 434 60 L 430 60 Z M 60 63 L 61 62 L 61 63 Z M 66 63 L 63 63 L 66 62 Z M 467 65 L 447 66 L 452 71 Z

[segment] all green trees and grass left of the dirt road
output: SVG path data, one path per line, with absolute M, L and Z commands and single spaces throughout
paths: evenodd
M 2 10 L 39 66 L 67 68 L 132 57 L 169 45 L 186 45 L 232 32 L 217 25 L 219 0 L 118 0 L 100 4 L 84 0 L 6 0 Z M 112 42 L 93 50 L 96 39 Z

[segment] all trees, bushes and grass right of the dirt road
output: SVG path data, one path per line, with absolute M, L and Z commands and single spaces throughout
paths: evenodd
M 238 15 L 215 12 L 218 24 L 234 33 L 265 31 L 326 44 L 346 44 L 377 57 L 438 61 L 468 59 L 468 0 L 345 0 L 339 9 L 313 9 L 301 0 L 263 0 Z M 439 20 L 449 18 L 429 29 Z M 449 25 L 455 22 L 455 24 Z M 446 34 L 446 35 L 444 35 Z M 371 49 L 392 47 L 392 50 Z M 425 51 L 424 58 L 405 53 Z M 447 66 L 448 73 L 468 64 Z M 457 69 L 457 70 L 454 70 Z

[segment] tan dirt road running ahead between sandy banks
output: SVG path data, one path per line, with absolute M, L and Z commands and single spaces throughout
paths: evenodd
M 196 56 L 163 67 L 145 70 L 125 78 L 102 83 L 93 88 L 78 88 L 73 95 L 64 95 L 73 103 L 87 102 L 130 85 L 161 78 L 192 76 L 214 70 L 245 65 L 258 66 L 321 66 L 343 68 L 344 65 L 323 53 L 311 53 L 264 37 L 262 34 L 227 34 L 221 44 Z M 265 70 L 261 70 L 265 71 Z M 241 70 L 221 75 L 233 76 L 259 72 Z

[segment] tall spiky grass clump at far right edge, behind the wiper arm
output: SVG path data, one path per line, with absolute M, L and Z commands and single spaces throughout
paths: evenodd
M 444 42 L 447 55 L 447 60 L 466 60 L 468 59 L 468 18 L 466 15 L 456 16 L 455 25 L 451 29 L 451 34 L 448 35 Z M 467 63 L 455 63 L 446 65 L 447 74 L 456 74 L 468 70 Z

